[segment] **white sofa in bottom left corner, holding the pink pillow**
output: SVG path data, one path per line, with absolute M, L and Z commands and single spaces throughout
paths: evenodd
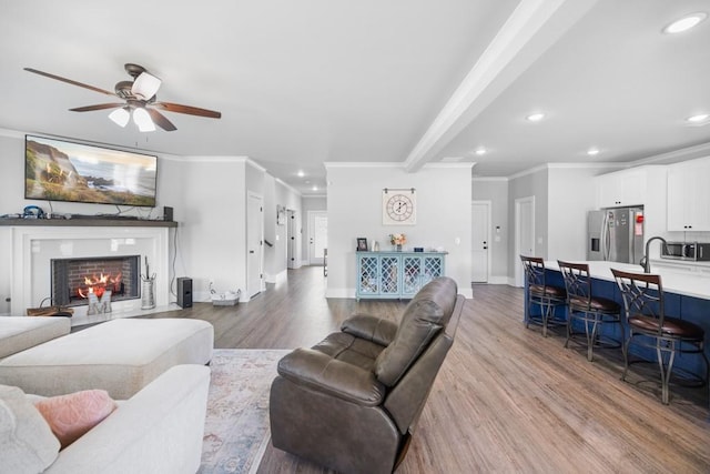
M 42 464 L 50 461 L 47 473 L 195 473 L 209 385 L 209 367 L 173 366 L 61 452 L 55 440 L 54 444 L 41 442 L 41 423 L 24 423 L 28 417 L 13 416 L 12 409 L 0 400 L 0 474 L 37 472 L 27 463 L 37 465 L 38 457 L 43 457 Z M 31 403 L 36 397 L 27 400 Z M 27 442 L 12 441 L 12 435 L 27 437 Z M 21 448 L 29 451 L 18 451 Z M 58 454 L 52 460 L 54 450 Z

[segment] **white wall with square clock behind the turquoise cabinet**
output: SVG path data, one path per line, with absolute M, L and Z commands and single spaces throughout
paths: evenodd
M 387 235 L 403 232 L 405 248 L 444 248 L 446 274 L 471 296 L 471 163 L 428 164 L 408 173 L 400 164 L 326 163 L 328 180 L 327 296 L 355 295 L 356 239 L 389 245 Z M 416 225 L 383 225 L 384 188 L 415 188 Z M 458 242 L 458 243 L 457 243 Z

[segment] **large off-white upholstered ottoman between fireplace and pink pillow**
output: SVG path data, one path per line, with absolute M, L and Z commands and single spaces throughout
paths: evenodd
M 213 345 L 206 321 L 116 319 L 1 360 L 0 383 L 44 396 L 102 389 L 128 400 L 173 365 L 206 364 Z

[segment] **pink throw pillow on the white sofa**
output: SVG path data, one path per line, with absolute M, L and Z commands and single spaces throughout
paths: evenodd
M 105 390 L 84 390 L 68 395 L 51 396 L 34 403 L 62 450 L 101 423 L 116 409 Z

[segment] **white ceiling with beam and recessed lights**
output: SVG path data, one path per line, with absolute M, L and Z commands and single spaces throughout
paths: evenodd
M 509 177 L 710 144 L 710 125 L 683 122 L 710 113 L 710 20 L 661 33 L 707 0 L 0 2 L 1 129 L 250 157 L 304 195 L 324 193 L 328 161 Z M 68 111 L 106 95 L 23 71 L 113 90 L 126 62 L 163 80 L 159 100 L 222 119 L 121 129 L 109 111 Z

